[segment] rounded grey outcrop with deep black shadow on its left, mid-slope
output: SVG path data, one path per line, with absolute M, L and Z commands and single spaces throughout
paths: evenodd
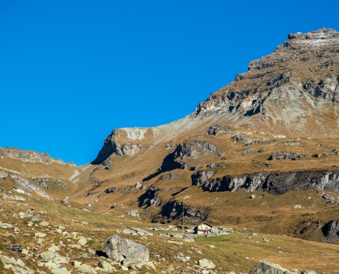
M 210 142 L 199 142 L 197 140 L 192 143 L 183 142 L 177 145 L 174 151 L 166 155 L 160 170 L 164 172 L 173 169 L 188 169 L 188 164 L 182 161 L 184 158 L 198 159 L 203 155 L 218 155 L 218 148 Z

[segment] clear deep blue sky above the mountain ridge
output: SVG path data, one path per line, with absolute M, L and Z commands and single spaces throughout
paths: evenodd
M 0 0 L 0 147 L 81 165 L 119 127 L 180 119 L 339 1 Z

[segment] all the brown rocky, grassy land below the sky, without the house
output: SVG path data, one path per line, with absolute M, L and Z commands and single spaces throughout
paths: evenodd
M 319 29 L 84 166 L 0 148 L 0 273 L 337 271 L 338 103 L 339 33 Z

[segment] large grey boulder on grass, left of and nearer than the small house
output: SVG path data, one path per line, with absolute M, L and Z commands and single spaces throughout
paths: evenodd
M 127 238 L 112 235 L 103 248 L 108 258 L 125 260 L 125 258 L 135 258 L 137 260 L 149 261 L 149 248 Z

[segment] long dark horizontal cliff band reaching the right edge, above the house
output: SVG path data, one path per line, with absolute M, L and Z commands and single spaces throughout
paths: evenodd
M 192 184 L 197 184 L 195 173 Z M 205 191 L 234 192 L 239 189 L 247 191 L 264 190 L 272 195 L 282 195 L 288 190 L 321 189 L 339 191 L 339 171 L 297 171 L 290 173 L 268 172 L 256 173 L 253 175 L 240 175 L 207 179 L 201 187 Z

